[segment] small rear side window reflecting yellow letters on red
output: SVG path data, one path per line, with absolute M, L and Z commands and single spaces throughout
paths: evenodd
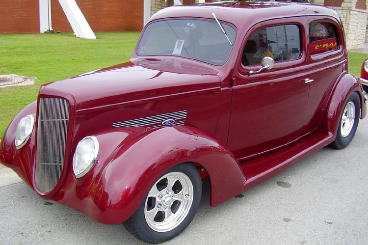
M 313 22 L 309 25 L 309 50 L 320 54 L 339 49 L 339 36 L 334 25 L 327 22 Z

